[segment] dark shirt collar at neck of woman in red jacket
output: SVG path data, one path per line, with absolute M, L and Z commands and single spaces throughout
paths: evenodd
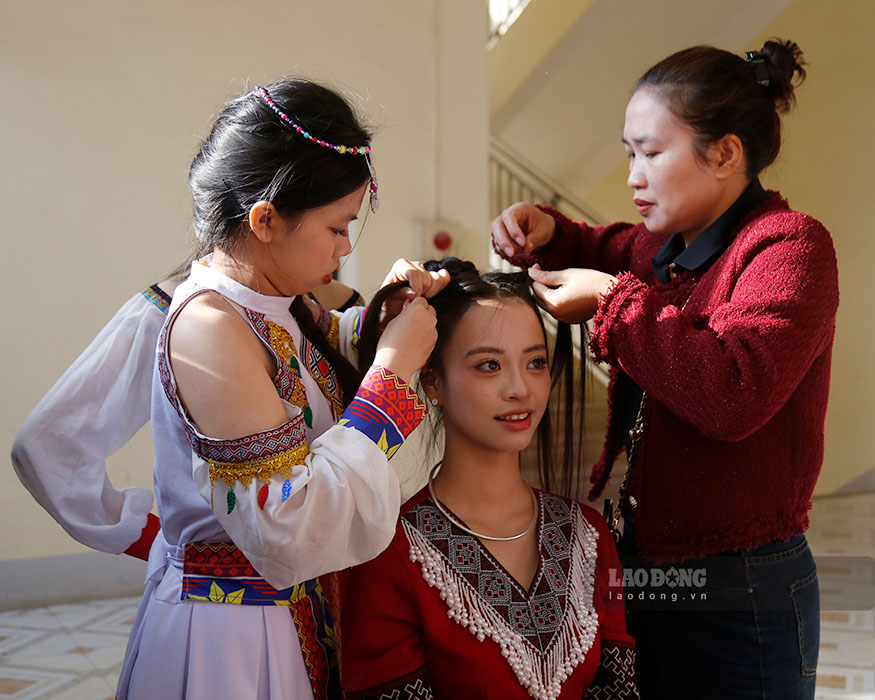
M 741 219 L 768 196 L 760 181 L 754 178 L 732 206 L 696 236 L 690 245 L 686 245 L 681 234 L 674 234 L 650 262 L 656 278 L 665 283 L 674 279 L 680 270 L 707 268 L 732 243 Z

